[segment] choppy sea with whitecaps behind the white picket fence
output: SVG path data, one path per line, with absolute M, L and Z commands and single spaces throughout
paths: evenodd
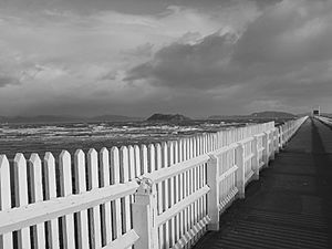
M 73 153 L 77 148 L 101 149 L 114 145 L 148 144 L 177 139 L 194 133 L 216 132 L 242 123 L 195 121 L 186 124 L 153 124 L 146 122 L 97 122 L 69 124 L 0 124 L 0 154 L 13 158 L 15 153 Z

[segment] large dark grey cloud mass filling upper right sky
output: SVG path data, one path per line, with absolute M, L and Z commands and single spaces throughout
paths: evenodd
M 268 8 L 238 40 L 214 34 L 197 44 L 173 43 L 132 69 L 127 80 L 175 89 L 238 85 L 236 95 L 247 105 L 258 100 L 299 110 L 300 104 L 314 105 L 332 94 L 331 12 L 326 1 L 283 1 Z

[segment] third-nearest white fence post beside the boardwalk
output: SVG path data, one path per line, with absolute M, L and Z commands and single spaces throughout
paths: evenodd
M 236 148 L 236 159 L 237 159 L 237 188 L 239 191 L 239 198 L 245 198 L 245 188 L 246 188 L 246 176 L 245 176 L 245 149 L 241 143 L 238 143 L 238 147 Z

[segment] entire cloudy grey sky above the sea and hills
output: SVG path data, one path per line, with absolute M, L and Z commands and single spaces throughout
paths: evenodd
M 0 115 L 332 112 L 332 1 L 0 0 Z

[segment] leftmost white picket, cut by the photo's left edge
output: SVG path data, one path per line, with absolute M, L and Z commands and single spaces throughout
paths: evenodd
M 6 155 L 0 155 L 0 207 L 11 209 L 10 166 Z M 0 235 L 0 249 L 13 249 L 12 232 Z

